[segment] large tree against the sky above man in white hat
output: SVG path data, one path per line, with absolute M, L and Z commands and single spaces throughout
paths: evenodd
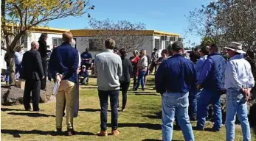
M 256 1 L 216 0 L 190 11 L 188 32 L 211 37 L 220 46 L 240 42 L 256 76 Z

